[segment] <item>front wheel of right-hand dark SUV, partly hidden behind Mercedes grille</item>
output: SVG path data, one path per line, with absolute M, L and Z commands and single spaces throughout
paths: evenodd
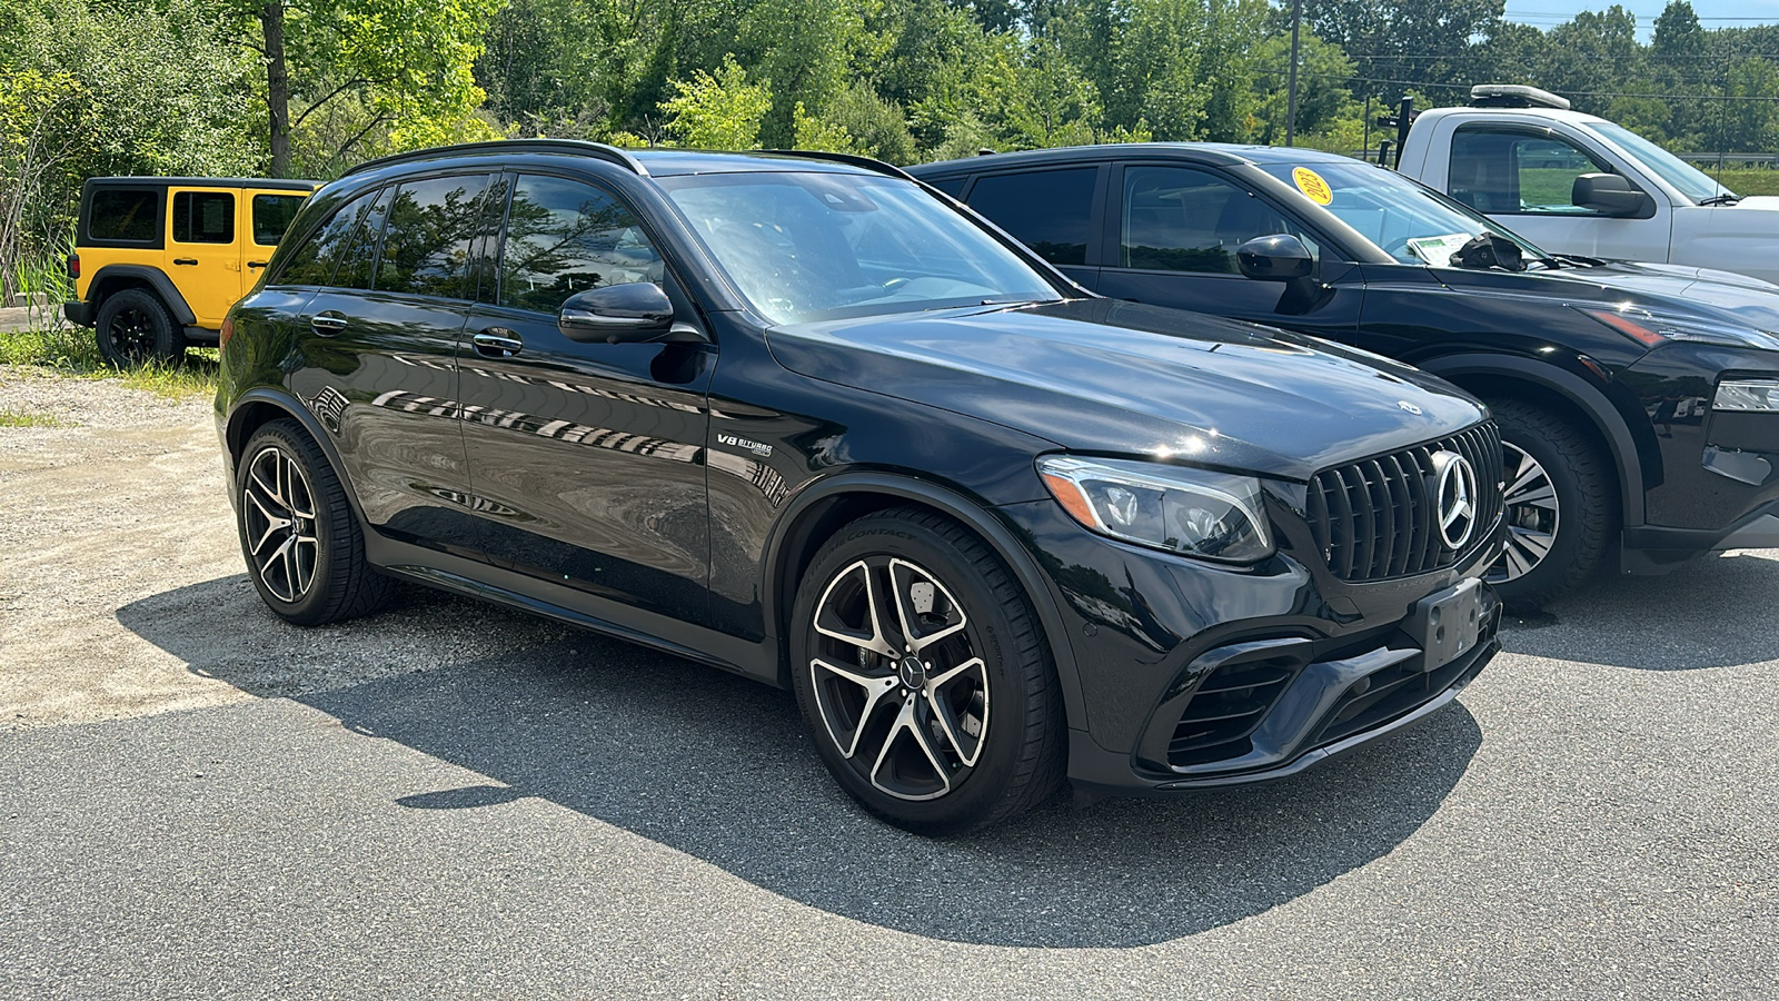
M 1521 399 L 1489 408 L 1501 427 L 1509 533 L 1489 582 L 1509 607 L 1535 609 L 1599 566 L 1619 524 L 1617 477 L 1592 435 L 1560 413 Z

